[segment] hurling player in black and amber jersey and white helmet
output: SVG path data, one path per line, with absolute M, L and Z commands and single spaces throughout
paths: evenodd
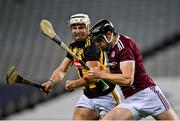
M 103 52 L 92 43 L 89 37 L 90 18 L 87 14 L 75 14 L 69 20 L 70 31 L 73 41 L 69 48 L 85 62 L 90 68 L 105 69 Z M 65 88 L 73 91 L 77 87 L 82 87 L 82 94 L 76 103 L 73 120 L 98 120 L 107 112 L 117 106 L 120 96 L 115 88 L 115 84 L 106 82 L 109 88 L 104 88 L 102 81 L 86 80 L 84 75 L 87 70 L 72 55 L 67 53 L 61 64 L 54 70 L 50 79 L 43 84 L 45 92 L 50 92 L 53 85 L 63 80 L 72 65 L 76 67 L 79 78 L 67 80 Z

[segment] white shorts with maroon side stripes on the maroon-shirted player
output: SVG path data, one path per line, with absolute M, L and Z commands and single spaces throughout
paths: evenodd
M 140 120 L 149 115 L 157 116 L 168 110 L 170 104 L 158 86 L 145 88 L 128 97 L 124 103 L 117 106 L 128 109 L 134 120 Z

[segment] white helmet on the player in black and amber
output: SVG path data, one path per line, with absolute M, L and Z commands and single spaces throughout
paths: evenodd
M 86 27 L 90 24 L 90 18 L 87 14 L 79 13 L 72 15 L 69 20 L 69 25 L 73 24 L 85 24 Z

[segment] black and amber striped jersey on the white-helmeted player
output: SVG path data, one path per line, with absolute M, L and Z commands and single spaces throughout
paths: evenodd
M 87 61 L 99 61 L 100 62 L 100 69 L 104 70 L 107 66 L 104 64 L 104 54 L 103 52 L 91 42 L 90 38 L 88 37 L 86 41 L 76 41 L 72 42 L 69 45 L 69 48 L 80 58 L 83 62 Z M 67 56 L 69 59 L 74 61 L 74 65 L 78 71 L 79 78 L 82 78 L 87 70 L 69 53 Z M 83 92 L 88 98 L 95 98 L 98 96 L 106 95 L 112 92 L 115 88 L 115 84 L 110 83 L 109 81 L 105 81 L 109 88 L 104 90 L 103 83 L 94 82 L 89 84 L 88 86 L 83 87 Z

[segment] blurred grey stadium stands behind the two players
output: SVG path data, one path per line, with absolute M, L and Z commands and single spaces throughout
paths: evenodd
M 180 116 L 179 0 L 0 0 L 0 119 L 72 119 L 81 89 L 67 93 L 64 83 L 77 78 L 74 68 L 49 95 L 21 84 L 7 85 L 6 72 L 15 66 L 25 78 L 43 83 L 66 52 L 42 35 L 39 23 L 52 22 L 69 44 L 69 17 L 86 13 L 91 23 L 105 18 L 116 30 L 136 40 L 145 68 Z

